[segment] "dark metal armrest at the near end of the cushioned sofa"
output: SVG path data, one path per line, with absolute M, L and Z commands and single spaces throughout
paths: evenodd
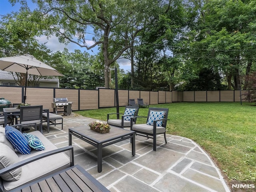
M 42 153 L 40 155 L 36 155 L 34 157 L 30 157 L 28 159 L 25 159 L 25 160 L 22 160 L 18 163 L 14 163 L 6 168 L 3 168 L 0 170 L 0 176 L 7 173 L 7 172 L 10 172 L 16 168 L 19 168 L 21 166 L 24 166 L 26 164 L 29 164 L 31 162 L 34 162 L 36 160 L 39 160 L 41 158 L 45 158 L 45 157 L 48 157 L 50 155 L 54 155 L 54 154 L 58 154 L 58 153 L 61 153 L 61 152 L 64 152 L 64 151 L 70 151 L 70 167 L 71 166 L 74 166 L 74 148 L 72 146 L 66 146 L 66 147 L 62 147 L 62 148 L 59 148 L 59 149 L 56 149 L 56 150 L 52 150 L 52 151 L 48 151 L 48 152 L 45 152 L 45 153 Z

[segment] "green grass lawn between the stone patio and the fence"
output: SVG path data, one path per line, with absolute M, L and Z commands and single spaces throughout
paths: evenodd
M 248 102 L 242 105 L 240 102 L 180 102 L 151 106 L 169 108 L 167 133 L 198 143 L 228 180 L 256 183 L 256 106 Z M 112 112 L 116 112 L 116 108 L 77 113 L 106 120 L 107 113 Z M 120 112 L 124 112 L 124 107 L 120 107 Z M 138 115 L 147 116 L 147 113 L 148 108 L 140 108 Z

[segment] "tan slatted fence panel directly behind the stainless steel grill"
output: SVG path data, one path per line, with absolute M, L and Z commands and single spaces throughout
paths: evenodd
M 78 89 L 55 89 L 55 98 L 68 98 L 72 110 L 78 110 Z

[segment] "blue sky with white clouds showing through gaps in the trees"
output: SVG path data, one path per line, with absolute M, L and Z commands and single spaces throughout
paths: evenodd
M 31 8 L 33 8 L 33 4 L 31 2 L 31 0 L 27 0 L 28 5 L 31 6 Z M 8 0 L 0 0 L 0 15 L 5 15 L 7 13 L 10 12 L 16 12 L 20 9 L 20 4 L 15 4 L 14 6 L 12 6 L 12 4 L 10 4 L 10 2 Z M 2 16 L 0 16 L 1 19 Z M 65 44 L 61 44 L 58 41 L 58 38 L 56 36 L 52 36 L 50 39 L 47 39 L 46 36 L 40 36 L 37 38 L 38 42 L 40 44 L 43 44 L 45 42 L 46 46 L 52 51 L 52 52 L 56 52 L 56 51 L 63 51 L 64 48 L 67 48 L 69 52 L 74 52 L 75 49 L 79 49 L 82 52 L 86 51 L 89 54 L 94 55 L 98 53 L 98 48 L 93 48 L 92 50 L 87 50 L 86 48 L 80 48 L 80 46 L 74 44 L 74 43 L 69 43 L 67 45 Z M 88 39 L 92 39 L 92 37 L 88 37 Z M 86 41 L 86 43 L 88 44 L 88 46 L 92 45 L 94 42 L 91 40 Z M 93 52 L 92 52 L 93 51 Z M 118 64 L 120 65 L 121 69 L 124 69 L 125 72 L 130 71 L 131 70 L 131 64 L 130 64 L 130 60 L 127 59 L 118 59 L 117 60 Z

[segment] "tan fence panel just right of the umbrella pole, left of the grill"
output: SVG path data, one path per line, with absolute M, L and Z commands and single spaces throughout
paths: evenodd
M 26 103 L 31 105 L 42 105 L 44 109 L 53 112 L 53 89 L 48 88 L 27 88 Z

